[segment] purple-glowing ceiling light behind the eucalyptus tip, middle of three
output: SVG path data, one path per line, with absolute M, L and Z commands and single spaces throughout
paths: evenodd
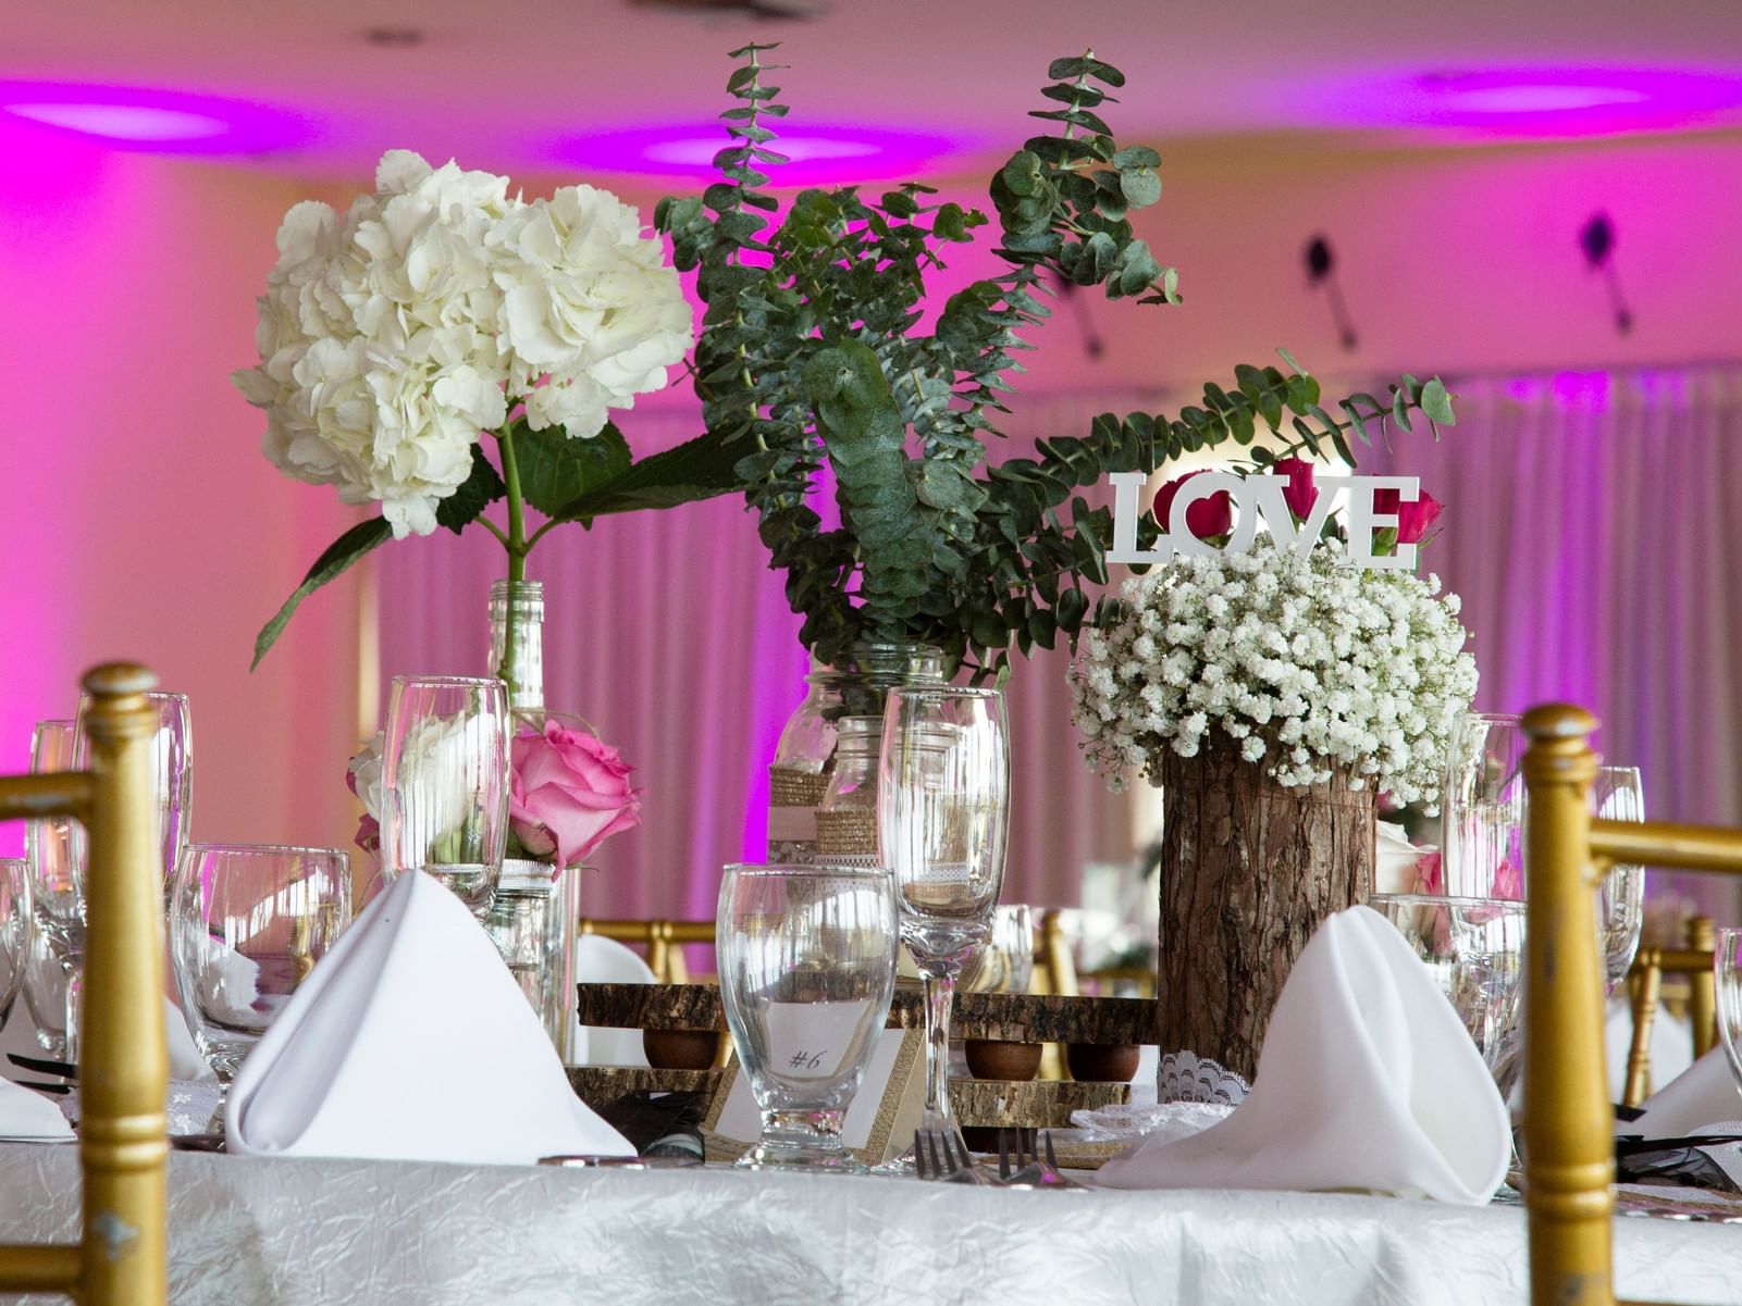
M 777 124 L 779 131 L 779 124 Z M 719 124 L 669 124 L 632 131 L 571 136 L 550 155 L 598 172 L 695 178 L 714 174 L 714 155 L 732 146 Z M 939 160 L 967 148 L 930 132 L 890 131 L 857 124 L 807 124 L 768 141 L 789 162 L 761 169 L 775 186 L 812 186 L 866 179 L 923 176 Z

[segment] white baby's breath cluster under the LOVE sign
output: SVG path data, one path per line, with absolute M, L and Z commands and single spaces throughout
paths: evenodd
M 1084 634 L 1070 669 L 1090 770 L 1160 784 L 1165 751 L 1221 731 L 1282 785 L 1343 770 L 1399 803 L 1434 803 L 1453 717 L 1475 695 L 1458 596 L 1439 578 L 1305 557 L 1268 536 L 1185 557 L 1124 587 L 1125 620 Z

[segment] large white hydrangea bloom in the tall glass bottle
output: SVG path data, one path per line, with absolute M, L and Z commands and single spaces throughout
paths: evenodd
M 263 453 L 345 503 L 380 502 L 404 538 L 436 529 L 479 432 L 517 404 L 535 430 L 587 439 L 664 387 L 692 315 L 610 192 L 528 202 L 507 178 L 394 150 L 343 216 L 284 216 L 256 343 L 260 366 L 233 380 L 267 411 Z

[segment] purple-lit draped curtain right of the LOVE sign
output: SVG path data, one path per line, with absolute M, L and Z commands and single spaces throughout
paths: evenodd
M 1399 434 L 1362 470 L 1446 503 L 1423 569 L 1463 596 L 1475 705 L 1583 703 L 1604 757 L 1641 768 L 1646 815 L 1742 824 L 1742 366 L 1451 388 L 1439 444 Z M 1672 888 L 1733 918 L 1719 881 Z

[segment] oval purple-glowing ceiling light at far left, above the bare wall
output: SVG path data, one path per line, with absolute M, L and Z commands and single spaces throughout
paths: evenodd
M 117 150 L 249 155 L 310 136 L 284 110 L 237 99 L 80 82 L 0 82 L 0 113 Z

